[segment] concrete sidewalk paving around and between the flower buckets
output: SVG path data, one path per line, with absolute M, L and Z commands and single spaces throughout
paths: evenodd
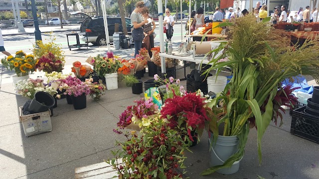
M 65 51 L 66 66 L 70 72 L 74 61 L 84 63 L 87 57 L 105 54 L 106 47 Z M 130 58 L 134 48 L 117 50 L 114 54 Z M 25 137 L 19 121 L 18 107 L 25 97 L 15 95 L 12 86 L 14 72 L 0 66 L 0 179 L 73 179 L 74 169 L 113 158 L 116 140 L 125 140 L 115 134 L 119 115 L 126 106 L 143 97 L 132 94 L 131 88 L 107 90 L 101 101 L 87 96 L 87 108 L 74 110 L 66 99 L 58 100 L 51 117 L 52 132 Z M 189 67 L 186 72 L 190 73 Z M 41 73 L 33 77 L 43 76 Z M 183 70 L 177 71 L 183 78 Z M 145 74 L 143 80 L 152 79 Z M 183 86 L 186 82 L 181 82 Z M 258 163 L 257 132 L 251 129 L 239 172 L 233 175 L 212 174 L 202 177 L 200 172 L 209 166 L 207 135 L 187 153 L 185 177 L 191 179 L 318 179 L 319 145 L 290 134 L 291 116 L 284 115 L 284 125 L 272 122 L 262 144 L 263 161 Z

